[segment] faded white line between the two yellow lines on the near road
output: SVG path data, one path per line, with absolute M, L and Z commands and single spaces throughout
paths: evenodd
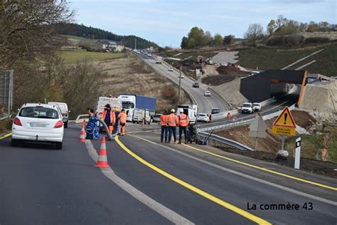
M 130 135 L 130 136 L 137 137 L 137 136 L 135 136 L 135 135 Z M 157 144 L 157 143 L 155 143 L 155 144 L 156 144 L 156 145 L 159 145 L 159 144 Z M 204 164 L 208 164 L 208 165 L 211 166 L 211 167 L 215 167 L 215 168 L 217 168 L 217 169 L 221 169 L 221 170 L 223 170 L 223 171 L 230 172 L 230 173 L 232 173 L 232 174 L 236 174 L 236 175 L 238 175 L 238 176 L 240 176 L 240 177 L 245 177 L 245 178 L 247 178 L 247 179 L 252 179 L 252 180 L 254 180 L 255 182 L 260 182 L 260 183 L 262 183 L 262 184 L 267 184 L 267 185 L 269 185 L 269 186 L 276 187 L 276 188 L 278 188 L 278 189 L 282 189 L 282 190 L 284 190 L 284 191 L 286 191 L 286 192 L 290 192 L 290 193 L 292 193 L 292 194 L 298 194 L 298 195 L 300 195 L 300 196 L 307 197 L 307 198 L 309 198 L 309 199 L 314 199 L 314 200 L 319 201 L 319 202 L 323 202 L 323 203 L 326 203 L 326 204 L 331 204 L 331 205 L 333 205 L 333 206 L 337 206 L 337 202 L 333 202 L 333 201 L 328 200 L 328 199 L 323 199 L 323 198 L 321 198 L 321 197 L 316 197 L 316 196 L 311 195 L 311 194 L 306 194 L 306 193 L 304 193 L 304 192 L 299 192 L 299 191 L 296 191 L 296 190 L 291 189 L 291 188 L 289 188 L 289 187 L 284 187 L 284 186 L 279 185 L 279 184 L 274 184 L 274 183 L 272 183 L 272 182 L 267 182 L 267 181 L 264 180 L 264 179 L 260 179 L 260 178 L 257 178 L 257 177 L 252 177 L 252 176 L 250 176 L 250 175 L 248 175 L 248 174 L 243 174 L 243 173 L 241 173 L 241 172 L 237 172 L 237 171 L 232 170 L 232 169 L 228 169 L 228 168 L 225 168 L 225 167 L 221 167 L 221 166 L 219 166 L 218 164 L 213 164 L 212 162 L 208 162 L 208 161 L 205 161 L 205 160 L 203 160 L 203 159 L 199 159 L 198 157 L 193 157 L 193 156 L 188 155 L 188 154 L 186 154 L 186 153 L 184 153 L 184 152 L 181 152 L 181 151 L 179 151 L 179 150 L 175 150 L 175 149 L 173 149 L 173 148 L 171 148 L 171 147 L 167 147 L 167 146 L 164 146 L 164 145 L 160 145 L 160 146 L 166 148 L 167 150 L 171 150 L 171 151 L 176 152 L 176 153 L 178 153 L 178 154 L 180 154 L 180 155 L 183 155 L 183 156 L 185 156 L 185 157 L 188 157 L 188 158 L 190 158 L 190 159 L 194 159 L 194 160 L 196 160 L 196 161 L 198 161 L 198 162 L 203 162 Z

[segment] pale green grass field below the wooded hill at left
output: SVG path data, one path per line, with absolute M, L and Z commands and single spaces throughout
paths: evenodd
M 100 53 L 91 51 L 57 51 L 65 63 L 73 64 L 87 58 L 90 61 L 105 61 L 126 57 L 126 53 Z

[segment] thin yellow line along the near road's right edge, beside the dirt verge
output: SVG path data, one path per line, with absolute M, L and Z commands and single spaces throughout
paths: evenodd
M 185 145 L 185 144 L 183 144 L 183 145 Z M 271 170 L 271 169 L 266 169 L 266 168 L 263 168 L 263 167 L 257 167 L 257 166 L 255 166 L 255 165 L 249 164 L 249 163 L 247 163 L 247 162 L 241 162 L 241 161 L 236 160 L 236 159 L 231 159 L 231 158 L 229 158 L 229 157 L 224 157 L 224 156 L 222 156 L 222 155 L 218 155 L 218 154 L 215 154 L 215 153 L 212 153 L 212 152 L 208 152 L 208 151 L 205 151 L 205 150 L 200 150 L 200 149 L 198 149 L 198 148 L 196 148 L 196 147 L 192 147 L 192 146 L 190 146 L 190 145 L 185 145 L 185 146 L 186 146 L 186 147 L 190 147 L 191 149 L 197 150 L 197 151 L 199 151 L 199 152 L 204 152 L 204 153 L 207 153 L 207 154 L 209 154 L 209 155 L 213 155 L 213 156 L 215 156 L 215 157 L 219 157 L 219 158 L 222 158 L 222 159 L 227 159 L 228 161 L 231 161 L 231 162 L 236 162 L 236 163 L 239 163 L 239 164 L 243 164 L 243 165 L 245 165 L 245 166 L 247 166 L 247 167 L 252 167 L 252 168 L 255 168 L 255 169 L 260 169 L 260 170 L 263 170 L 263 171 L 265 171 L 265 172 L 269 172 L 269 173 L 272 173 L 272 174 L 277 174 L 277 175 L 282 176 L 282 177 L 287 177 L 287 178 L 290 178 L 290 179 L 296 179 L 296 180 L 298 180 L 298 181 L 300 181 L 300 182 L 304 182 L 304 183 L 308 183 L 308 184 L 313 184 L 313 185 L 316 185 L 316 186 L 319 186 L 319 187 L 324 187 L 324 188 L 326 188 L 326 189 L 331 189 L 331 190 L 333 190 L 333 191 L 337 191 L 337 188 L 336 188 L 336 187 L 330 187 L 330 186 L 325 185 L 325 184 L 319 184 L 319 183 L 316 183 L 316 182 L 311 182 L 311 181 L 306 180 L 306 179 L 301 179 L 301 178 L 299 178 L 299 177 L 294 177 L 294 176 L 291 176 L 291 175 L 288 175 L 288 174 L 283 174 L 283 173 L 281 173 L 281 172 L 276 172 L 276 171 Z

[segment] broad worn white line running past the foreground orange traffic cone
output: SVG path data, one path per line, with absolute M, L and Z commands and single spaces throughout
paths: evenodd
M 97 152 L 94 146 L 92 145 L 92 142 L 90 142 L 90 140 L 86 140 L 85 145 L 87 147 L 87 152 L 89 152 L 90 157 L 92 157 L 92 159 L 96 162 L 98 155 L 97 155 Z M 147 196 L 143 192 L 140 192 L 138 189 L 133 187 L 131 184 L 124 181 L 124 179 L 118 177 L 111 168 L 102 169 L 102 173 L 105 174 L 105 177 L 107 177 L 112 182 L 117 184 L 125 192 L 129 193 L 132 197 L 137 199 L 139 202 L 145 204 L 150 209 L 153 209 L 157 213 L 161 214 L 161 216 L 164 216 L 166 219 L 169 219 L 169 221 L 173 222 L 174 224 L 193 224 L 188 219 L 177 214 L 175 211 L 172 211 L 166 206 L 160 204 L 159 202 L 156 202 L 154 199 L 151 199 L 151 197 Z

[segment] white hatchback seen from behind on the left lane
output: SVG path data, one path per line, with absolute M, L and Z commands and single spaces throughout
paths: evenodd
M 53 143 L 62 149 L 63 117 L 56 105 L 26 103 L 21 106 L 11 127 L 11 145 L 21 142 Z

